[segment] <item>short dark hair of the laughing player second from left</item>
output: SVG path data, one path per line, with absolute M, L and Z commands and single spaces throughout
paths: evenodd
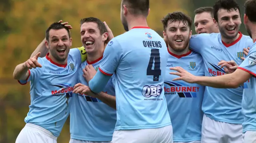
M 94 17 L 83 18 L 80 21 L 80 26 L 82 26 L 82 24 L 84 24 L 86 22 L 94 22 L 94 23 L 98 24 L 98 28 L 100 29 L 100 34 L 108 32 L 105 24 L 101 20 L 99 20 L 98 18 L 94 18 Z

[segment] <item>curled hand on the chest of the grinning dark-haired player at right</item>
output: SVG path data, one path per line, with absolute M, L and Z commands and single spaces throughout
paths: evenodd
M 222 60 L 218 63 L 218 66 L 220 66 L 220 68 L 223 68 L 227 74 L 233 73 L 238 68 L 238 65 L 233 60 L 228 62 Z

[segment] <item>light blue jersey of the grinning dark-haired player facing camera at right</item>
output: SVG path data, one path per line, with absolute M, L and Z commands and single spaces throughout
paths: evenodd
M 240 65 L 241 57 L 244 57 L 243 49 L 250 47 L 252 43 L 252 39 L 242 33 L 230 44 L 222 42 L 220 33 L 192 35 L 190 39 L 191 49 L 200 53 L 204 59 L 205 76 L 225 74 L 224 69 L 218 66 L 221 60 L 234 60 Z M 202 110 L 206 116 L 216 121 L 242 124 L 242 94 L 242 87 L 226 89 L 206 86 Z

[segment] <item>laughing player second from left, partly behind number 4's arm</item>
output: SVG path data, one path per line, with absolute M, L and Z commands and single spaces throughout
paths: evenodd
M 83 92 L 83 87 L 88 85 L 88 76 L 83 76 L 84 72 L 93 77 L 102 61 L 104 42 L 108 38 L 107 28 L 98 18 L 92 17 L 83 18 L 80 24 L 87 60 L 80 66 L 79 84 L 76 84 L 79 88 L 75 86 L 73 91 L 78 95 L 73 97 L 74 104 L 70 109 L 70 143 L 110 143 L 116 124 L 114 76 L 103 92 Z

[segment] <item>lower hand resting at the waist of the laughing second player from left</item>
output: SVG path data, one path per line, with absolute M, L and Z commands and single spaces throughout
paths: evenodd
M 92 92 L 92 90 L 89 88 L 89 86 L 86 86 L 82 83 L 78 83 L 74 86 L 73 93 L 76 93 L 76 94 L 80 93 L 80 94 L 85 94 L 88 96 L 96 97 L 96 94 L 94 94 Z

